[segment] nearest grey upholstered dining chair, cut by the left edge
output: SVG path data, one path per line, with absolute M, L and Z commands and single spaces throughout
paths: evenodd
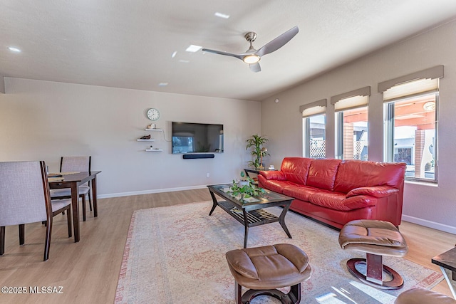
M 19 244 L 25 243 L 25 224 L 46 221 L 44 259 L 49 258 L 53 216 L 67 212 L 71 237 L 71 199 L 51 201 L 44 162 L 0 162 L 0 256 L 5 252 L 5 227 L 19 225 Z

